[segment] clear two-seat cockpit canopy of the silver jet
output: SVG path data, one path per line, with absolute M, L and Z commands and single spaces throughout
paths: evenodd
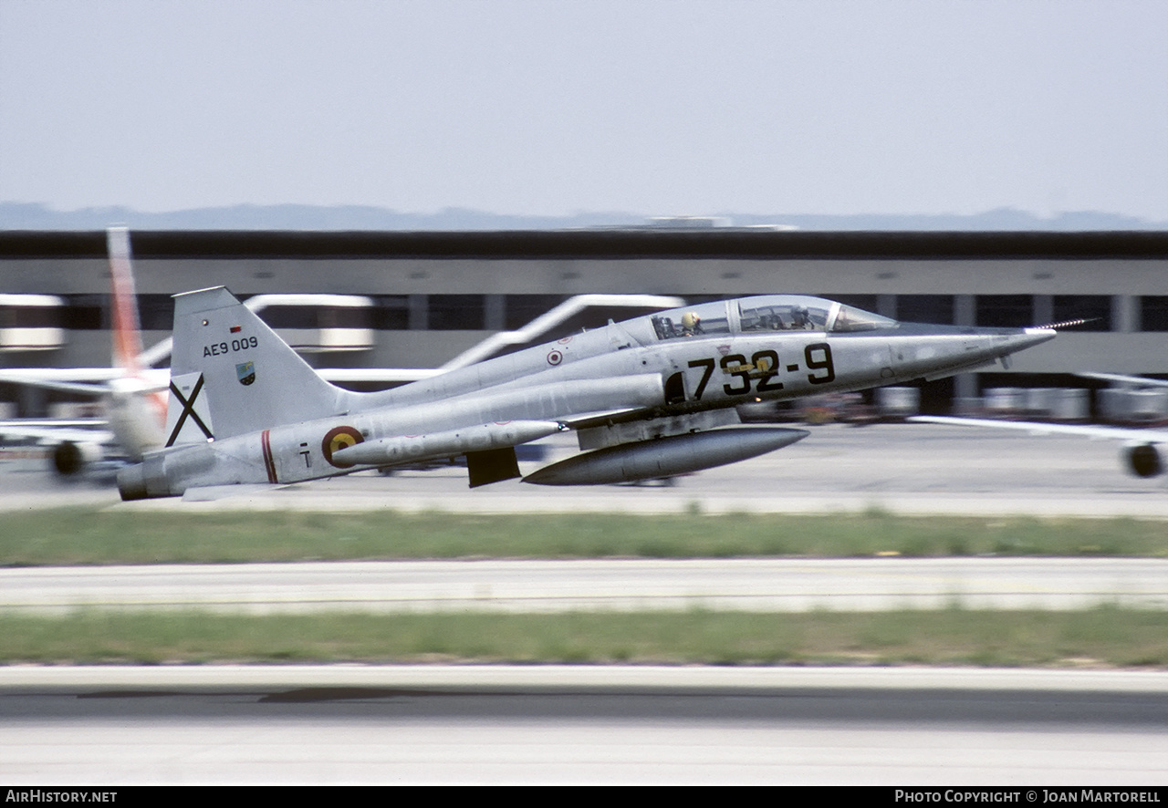
M 659 340 L 707 334 L 811 330 L 830 333 L 896 328 L 896 320 L 834 300 L 769 294 L 674 308 L 652 316 Z

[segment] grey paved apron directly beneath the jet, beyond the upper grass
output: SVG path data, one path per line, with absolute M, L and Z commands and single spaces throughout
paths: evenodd
M 470 490 L 465 468 L 362 473 L 216 502 L 121 503 L 111 487 L 62 486 L 46 474 L 6 474 L 0 510 L 77 502 L 123 509 L 180 508 L 405 511 L 840 513 L 1134 516 L 1168 518 L 1164 478 L 1139 479 L 1121 444 L 936 424 L 813 426 L 769 455 L 680 478 L 672 487 L 545 488 L 509 480 Z M 576 452 L 551 441 L 549 461 Z M 524 472 L 540 464 L 523 464 Z

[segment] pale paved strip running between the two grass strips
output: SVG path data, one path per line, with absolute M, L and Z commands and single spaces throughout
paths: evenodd
M 1168 608 L 1164 558 L 405 560 L 0 569 L 0 610 Z

